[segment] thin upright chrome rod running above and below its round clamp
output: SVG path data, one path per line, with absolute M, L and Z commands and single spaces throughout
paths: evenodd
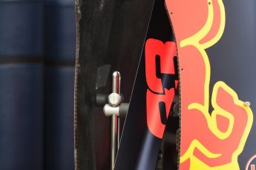
M 120 95 L 121 75 L 120 72 L 113 72 L 112 92 Z M 119 118 L 111 116 L 111 170 L 114 170 L 116 153 L 119 146 Z

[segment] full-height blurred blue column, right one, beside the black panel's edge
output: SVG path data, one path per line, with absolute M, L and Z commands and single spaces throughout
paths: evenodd
M 74 169 L 74 1 L 45 3 L 45 169 L 70 170 Z

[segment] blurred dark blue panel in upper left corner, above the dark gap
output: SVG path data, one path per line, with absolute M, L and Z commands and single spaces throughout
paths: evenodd
M 0 30 L 0 58 L 42 56 L 42 1 L 0 0 Z

